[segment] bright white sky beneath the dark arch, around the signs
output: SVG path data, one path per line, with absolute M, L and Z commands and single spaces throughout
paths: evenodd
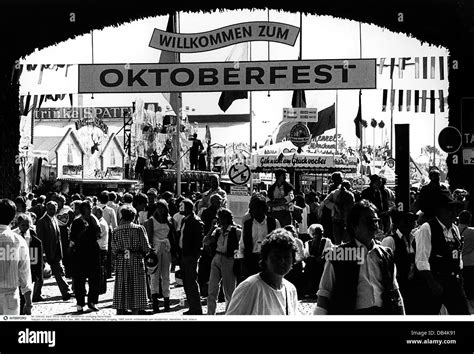
M 225 11 L 212 14 L 181 13 L 181 32 L 195 33 L 217 29 L 230 24 L 248 21 L 266 21 L 267 11 Z M 119 26 L 94 31 L 94 62 L 95 63 L 153 63 L 158 62 L 160 51 L 148 46 L 154 28 L 166 29 L 168 17 L 159 16 L 135 21 Z M 270 12 L 270 20 L 299 26 L 299 14 L 288 12 Z M 359 23 L 349 20 L 335 19 L 330 16 L 308 15 L 303 17 L 303 59 L 352 59 L 360 57 Z M 181 54 L 182 62 L 224 61 L 231 47 L 226 47 L 210 52 Z M 299 38 L 294 47 L 283 44 L 270 44 L 271 60 L 296 60 L 299 51 Z M 442 47 L 421 44 L 414 38 L 403 34 L 392 33 L 374 25 L 362 24 L 362 57 L 363 58 L 390 58 L 390 57 L 423 57 L 447 56 L 448 50 Z M 252 60 L 268 59 L 267 42 L 252 42 Z M 23 63 L 91 63 L 91 35 L 79 36 L 75 39 L 60 43 L 57 46 L 45 48 L 23 58 Z M 436 59 L 438 60 L 438 59 Z M 386 64 L 389 60 L 386 61 Z M 397 59 L 398 63 L 398 59 Z M 438 64 L 438 62 L 437 62 Z M 445 90 L 447 94 L 447 79 L 439 80 L 439 71 L 436 79 L 414 79 L 414 67 L 407 67 L 404 78 L 398 77 L 397 68 L 394 72 L 394 89 L 425 89 Z M 447 77 L 447 73 L 445 73 Z M 68 77 L 64 71 L 46 70 L 43 73 L 41 85 L 37 84 L 38 70 L 35 72 L 24 71 L 21 77 L 21 94 L 41 93 L 77 93 L 77 66 L 70 69 Z M 364 90 L 362 96 L 362 116 L 370 122 L 371 118 L 386 123 L 384 136 L 381 129 L 376 129 L 375 142 L 380 144 L 382 139 L 390 137 L 390 110 L 382 112 L 382 89 L 390 89 L 389 68 L 384 69 L 382 75 L 377 75 L 377 89 Z M 183 106 L 194 108 L 193 114 L 218 114 L 222 113 L 217 102 L 220 93 L 186 93 L 183 94 Z M 267 137 L 276 132 L 281 121 L 284 107 L 291 106 L 291 91 L 253 93 L 253 141 L 263 144 Z M 413 93 L 412 93 L 413 97 Z M 166 106 L 167 103 L 161 94 L 95 94 L 84 95 L 83 106 L 131 106 L 137 98 L 145 102 L 159 102 Z M 316 107 L 319 110 L 335 102 L 335 91 L 306 91 L 307 107 Z M 66 103 L 64 103 L 66 102 Z M 77 95 L 74 96 L 77 105 Z M 61 104 L 48 102 L 47 106 L 60 106 Z M 69 101 L 62 105 L 69 106 Z M 349 145 L 356 145 L 353 119 L 358 108 L 358 90 L 338 91 L 338 132 L 343 135 Z M 428 109 L 429 111 L 429 104 Z M 235 101 L 226 113 L 248 113 L 249 100 Z M 448 125 L 448 111 L 441 113 L 438 103 L 436 106 L 436 140 L 439 131 Z M 409 123 L 410 146 L 412 156 L 416 157 L 425 145 L 433 144 L 433 114 L 402 112 L 398 109 L 393 112 L 394 124 Z M 201 127 L 200 136 L 204 136 L 204 127 Z M 372 144 L 373 129 L 366 129 L 366 142 Z M 331 133 L 331 131 L 327 132 Z M 334 131 L 332 132 L 334 133 Z M 43 129 L 37 134 L 51 134 L 51 130 Z M 59 133 L 57 133 L 59 135 Z M 64 134 L 64 132 L 62 132 Z M 232 128 L 229 134 L 227 128 L 211 130 L 212 140 L 216 143 L 248 142 L 249 124 L 240 124 Z M 436 142 L 437 144 L 437 142 Z

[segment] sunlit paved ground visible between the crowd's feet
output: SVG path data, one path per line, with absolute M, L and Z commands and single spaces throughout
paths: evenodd
M 71 284 L 71 280 L 68 280 Z M 33 320 L 48 320 L 51 317 L 55 319 L 89 319 L 94 317 L 97 320 L 100 319 L 112 319 L 116 317 L 115 310 L 112 308 L 112 297 L 114 288 L 114 278 L 108 280 L 107 292 L 101 295 L 99 298 L 98 307 L 99 312 L 90 311 L 87 307 L 84 308 L 84 313 L 76 313 L 76 300 L 71 298 L 68 301 L 63 301 L 59 288 L 56 285 L 54 277 L 45 279 L 43 286 L 43 296 L 47 297 L 46 301 L 33 303 L 32 319 Z M 171 273 L 171 311 L 160 312 L 157 314 L 150 313 L 147 317 L 149 318 L 175 318 L 183 315 L 183 312 L 187 311 L 188 308 L 183 304 L 186 296 L 182 286 L 176 284 L 174 273 Z M 87 299 L 86 299 L 87 300 Z M 202 299 L 203 313 L 207 313 L 206 299 Z M 311 315 L 315 306 L 314 300 L 302 300 L 299 302 L 299 311 L 302 315 Z M 163 299 L 160 300 L 160 308 L 163 309 Z M 151 310 L 151 304 L 150 304 Z M 217 304 L 217 315 L 223 315 L 225 310 L 225 304 Z

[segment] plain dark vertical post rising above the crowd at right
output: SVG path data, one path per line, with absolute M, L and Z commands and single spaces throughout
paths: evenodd
M 410 210 L 410 125 L 395 124 L 395 176 L 397 208 Z

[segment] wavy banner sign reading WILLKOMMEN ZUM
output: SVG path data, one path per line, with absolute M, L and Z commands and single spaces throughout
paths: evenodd
M 252 41 L 293 46 L 299 31 L 299 27 L 278 22 L 245 22 L 201 33 L 172 33 L 155 28 L 149 46 L 179 53 L 205 52 Z

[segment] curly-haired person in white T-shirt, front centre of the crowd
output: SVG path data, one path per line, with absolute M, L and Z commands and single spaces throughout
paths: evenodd
M 263 241 L 261 252 L 262 271 L 237 286 L 226 315 L 297 315 L 296 288 L 284 278 L 296 257 L 294 238 L 276 229 Z

